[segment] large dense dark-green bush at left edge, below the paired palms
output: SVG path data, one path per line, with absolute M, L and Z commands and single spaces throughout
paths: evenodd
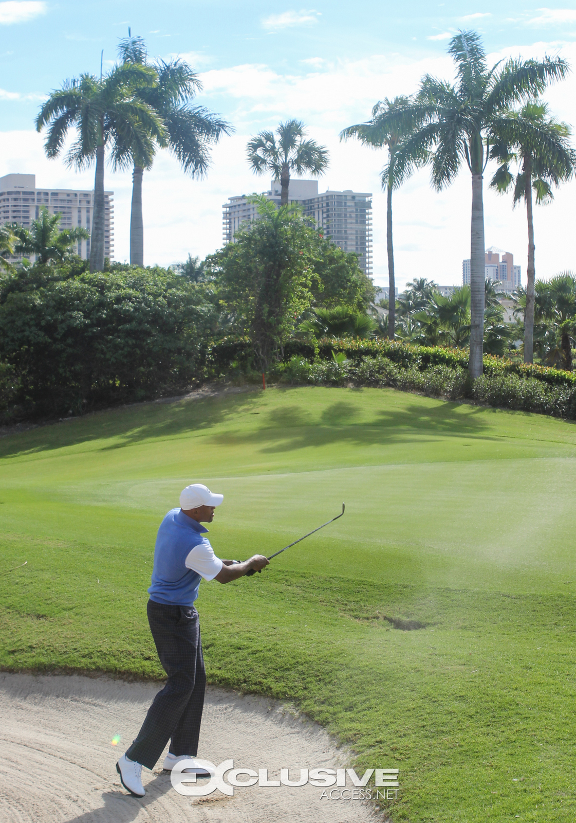
M 24 412 L 79 414 L 201 375 L 214 308 L 198 286 L 159 268 L 42 272 L 34 288 L 30 272 L 17 272 L 0 305 L 0 362 L 16 375 Z

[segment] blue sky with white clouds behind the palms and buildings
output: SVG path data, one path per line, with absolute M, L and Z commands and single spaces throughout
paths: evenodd
M 35 173 L 46 186 L 90 188 L 92 174 L 76 174 L 48 161 L 33 121 L 43 96 L 80 72 L 113 64 L 118 40 L 145 37 L 150 53 L 180 54 L 200 72 L 198 100 L 236 128 L 214 150 L 202 181 L 182 176 L 168 154 L 145 175 L 145 259 L 171 263 L 190 251 L 204 256 L 221 244 L 221 204 L 237 193 L 268 188 L 244 159 L 248 137 L 280 119 L 297 117 L 328 146 L 330 169 L 320 190 L 353 188 L 374 193 L 374 261 L 385 281 L 385 200 L 378 172 L 384 157 L 338 140 L 341 128 L 366 119 L 385 96 L 410 93 L 431 72 L 451 79 L 446 47 L 459 28 L 483 37 L 491 62 L 560 53 L 576 63 L 573 4 L 519 2 L 0 2 L 0 174 Z M 576 123 L 574 77 L 546 95 L 560 119 Z M 130 175 L 107 171 L 115 193 L 116 257 L 127 257 Z M 576 267 L 571 242 L 576 184 L 555 204 L 537 210 L 537 273 Z M 457 282 L 468 257 L 470 185 L 467 174 L 445 192 L 431 192 L 427 172 L 394 196 L 399 280 L 420 275 Z M 565 226 L 565 230 L 564 230 Z M 570 226 L 570 228 L 569 228 Z M 486 193 L 486 245 L 514 253 L 525 272 L 525 216 L 508 198 Z M 539 265 L 540 264 L 540 265 Z

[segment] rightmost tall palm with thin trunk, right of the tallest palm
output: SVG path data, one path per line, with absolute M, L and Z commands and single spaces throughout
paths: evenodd
M 528 267 L 526 270 L 526 309 L 524 312 L 524 363 L 534 358 L 534 221 L 532 189 L 536 202 L 547 203 L 554 198 L 552 186 L 569 179 L 574 173 L 576 156 L 569 146 L 570 129 L 558 123 L 548 113 L 541 100 L 528 100 L 519 112 L 503 112 L 495 120 L 494 131 L 499 137 L 490 155 L 500 162 L 491 187 L 499 192 L 514 188 L 514 206 L 523 200 L 528 217 Z M 510 164 L 519 162 L 514 174 Z

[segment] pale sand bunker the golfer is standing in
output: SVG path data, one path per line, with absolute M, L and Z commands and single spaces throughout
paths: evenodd
M 108 678 L 0 674 L 0 820 L 3 823 L 361 823 L 382 821 L 359 800 L 320 799 L 322 789 L 217 789 L 183 797 L 162 770 L 142 770 L 146 796 L 131 797 L 115 770 L 159 686 Z M 117 746 L 114 737 L 120 737 Z M 272 700 L 210 688 L 198 756 L 237 768 L 349 765 L 316 723 Z M 164 755 L 163 755 L 164 759 Z M 292 770 L 296 770 L 294 773 Z M 245 778 L 241 778 L 245 779 Z M 350 785 L 350 783 L 348 783 Z

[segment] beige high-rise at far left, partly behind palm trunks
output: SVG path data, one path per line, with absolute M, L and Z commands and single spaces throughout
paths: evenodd
M 104 257 L 114 258 L 113 192 L 104 192 Z M 19 223 L 26 229 L 39 217 L 40 208 L 62 214 L 60 227 L 83 226 L 90 231 L 94 218 L 94 192 L 74 188 L 36 188 L 35 174 L 6 174 L 0 177 L 0 224 Z M 76 248 L 81 258 L 90 258 L 90 238 L 79 240 Z M 13 258 L 16 259 L 16 258 Z

